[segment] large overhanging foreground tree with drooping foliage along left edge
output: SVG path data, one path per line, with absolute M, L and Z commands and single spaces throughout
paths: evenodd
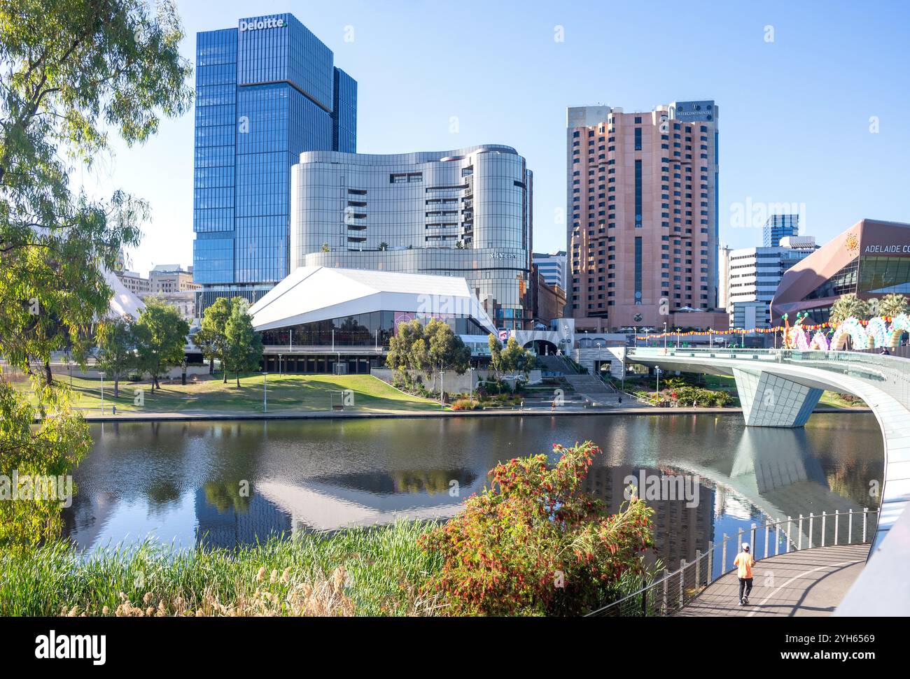
M 147 205 L 120 191 L 74 195 L 71 174 L 113 135 L 141 143 L 160 115 L 187 111 L 182 36 L 167 0 L 154 13 L 141 0 L 0 2 L 0 355 L 35 388 L 28 404 L 0 376 L 0 474 L 66 474 L 91 446 L 66 384 L 50 379 L 51 352 L 72 347 L 85 364 L 112 294 L 104 270 L 138 244 Z M 59 526 L 59 503 L 0 502 L 0 548 Z

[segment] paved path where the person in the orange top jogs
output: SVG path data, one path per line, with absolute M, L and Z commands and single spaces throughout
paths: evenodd
M 850 544 L 770 556 L 753 568 L 749 605 L 739 605 L 739 580 L 734 571 L 709 585 L 676 615 L 830 615 L 863 570 L 868 554 L 868 544 Z

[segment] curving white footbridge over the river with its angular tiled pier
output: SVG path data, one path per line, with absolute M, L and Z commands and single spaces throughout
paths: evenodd
M 825 390 L 863 399 L 885 442 L 873 552 L 910 503 L 910 360 L 849 351 L 672 347 L 630 347 L 625 360 L 671 372 L 733 375 L 748 426 L 801 427 Z

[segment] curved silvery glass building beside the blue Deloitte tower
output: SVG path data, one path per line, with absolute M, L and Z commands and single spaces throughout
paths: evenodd
M 500 328 L 531 323 L 531 171 L 515 149 L 301 153 L 290 269 L 463 277 Z

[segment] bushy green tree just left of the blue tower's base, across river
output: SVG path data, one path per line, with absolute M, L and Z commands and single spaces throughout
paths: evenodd
M 152 392 L 160 389 L 158 378 L 184 359 L 189 324 L 173 306 L 151 298 L 136 321 L 139 366 L 152 380 Z

